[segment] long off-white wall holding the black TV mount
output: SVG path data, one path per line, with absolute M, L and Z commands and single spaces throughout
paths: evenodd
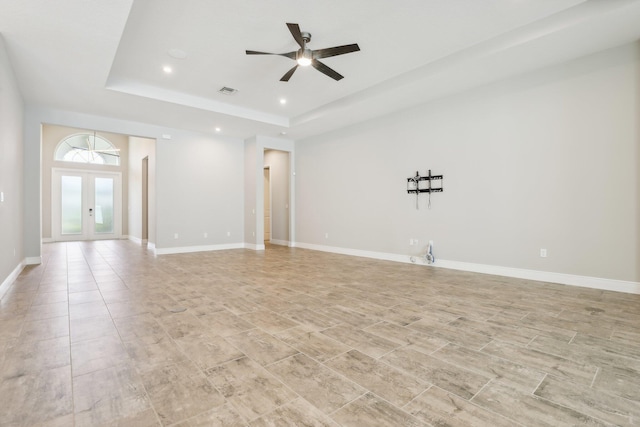
M 639 58 L 622 46 L 299 141 L 297 242 L 408 258 L 433 240 L 443 260 L 640 281 Z M 416 210 L 406 179 L 428 169 L 444 192 Z

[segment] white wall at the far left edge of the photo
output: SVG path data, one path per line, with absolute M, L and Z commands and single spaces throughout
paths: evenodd
M 23 114 L 22 95 L 0 35 L 0 297 L 24 261 Z

